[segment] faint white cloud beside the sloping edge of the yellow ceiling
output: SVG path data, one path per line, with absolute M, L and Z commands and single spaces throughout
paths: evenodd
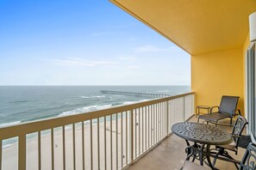
M 161 48 L 158 46 L 138 46 L 134 48 L 135 52 L 177 52 L 180 49 L 176 46 Z

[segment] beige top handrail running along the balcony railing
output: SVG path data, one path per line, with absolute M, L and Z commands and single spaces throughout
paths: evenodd
M 28 122 L 23 124 L 9 125 L 9 126 L 0 128 L 0 140 L 8 139 L 11 137 L 24 136 L 29 133 L 34 133 L 37 131 L 45 131 L 45 130 L 57 128 L 60 126 L 68 125 L 68 124 L 83 122 L 83 121 L 94 119 L 94 118 L 102 118 L 104 116 L 109 116 L 113 114 L 113 112 L 115 113 L 127 112 L 136 108 L 149 106 L 149 105 L 157 104 L 157 103 L 168 101 L 168 100 L 174 100 L 190 94 L 195 94 L 195 93 L 189 92 L 184 94 L 168 96 L 160 99 L 141 101 L 138 103 L 128 104 L 125 106 L 115 106 L 115 107 L 110 107 L 110 108 L 92 111 L 92 112 L 84 112 L 84 113 L 78 113 L 78 114 L 68 115 L 64 117 L 46 118 L 46 119 L 35 120 L 33 122 Z

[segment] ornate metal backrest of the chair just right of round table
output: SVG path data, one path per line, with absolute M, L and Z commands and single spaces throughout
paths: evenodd
M 247 119 L 242 116 L 239 116 L 234 122 L 232 135 L 234 136 L 234 142 L 236 143 L 236 147 L 238 146 L 241 133 L 244 131 L 246 125 Z

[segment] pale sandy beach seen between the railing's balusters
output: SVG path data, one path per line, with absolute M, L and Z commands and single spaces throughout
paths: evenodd
M 140 114 L 138 114 L 140 112 Z M 142 118 L 143 114 L 143 118 Z M 136 140 L 136 145 L 134 144 L 134 149 L 136 149 L 136 155 L 140 155 L 146 148 L 149 148 L 154 143 L 164 137 L 165 135 L 165 114 L 160 113 L 158 117 L 154 112 L 151 114 L 146 112 L 145 110 L 137 110 L 136 115 L 136 124 L 134 124 L 134 128 L 136 127 L 136 132 L 134 131 L 134 143 Z M 140 117 L 139 117 L 140 115 Z M 152 115 L 149 118 L 148 115 Z M 112 117 L 112 132 L 110 125 L 110 117 L 106 117 L 106 168 L 105 168 L 105 143 L 104 143 L 104 122 L 103 118 L 99 120 L 99 134 L 97 134 L 97 119 L 93 119 L 92 123 L 92 134 L 91 134 L 91 124 L 90 122 L 84 123 L 84 167 L 85 169 L 121 169 L 122 165 L 125 167 L 130 162 L 130 119 L 129 117 L 126 119 L 126 115 L 123 114 L 123 118 L 121 118 L 121 113 L 118 113 L 118 118 L 116 122 L 116 115 Z M 151 125 L 153 120 L 153 124 L 157 124 L 156 118 L 159 119 L 159 126 Z M 122 121 L 121 121 L 122 120 Z M 143 120 L 143 121 L 142 121 Z M 128 124 L 126 124 L 128 121 Z M 161 121 L 163 121 L 162 128 Z M 150 124 L 146 124 L 149 122 Z M 117 126 L 117 129 L 116 129 Z M 122 128 L 121 128 L 122 126 Z M 128 126 L 128 130 L 126 131 L 126 126 Z M 153 129 L 159 131 L 158 136 L 153 133 Z M 142 133 L 143 131 L 143 133 Z M 146 136 L 147 132 L 147 136 Z M 66 169 L 72 170 L 74 169 L 73 165 L 73 137 L 72 137 L 72 124 L 65 126 L 65 141 L 66 141 Z M 148 136 L 149 134 L 149 136 Z M 153 138 L 151 137 L 153 135 Z M 35 134 L 34 137 L 27 136 L 27 169 L 34 170 L 38 169 L 38 137 Z M 92 136 L 91 136 L 92 135 Z M 111 149 L 111 135 L 112 135 L 112 149 Z M 62 128 L 55 128 L 53 132 L 53 148 L 54 148 L 54 169 L 63 169 L 63 137 L 62 137 Z M 98 140 L 99 136 L 99 140 Z M 128 138 L 126 138 L 128 136 Z M 91 143 L 92 137 L 92 143 Z M 116 139 L 117 137 L 117 139 Z M 157 138 L 154 138 L 157 137 Z M 148 141 L 147 139 L 150 139 Z M 153 140 L 151 140 L 153 139 Z M 146 143 L 147 140 L 147 143 Z M 97 143 L 99 141 L 99 143 Z M 117 141 L 117 146 L 116 146 Z M 140 142 L 139 142 L 140 141 Z M 75 167 L 76 169 L 83 169 L 83 144 L 82 144 L 82 123 L 78 123 L 75 125 Z M 99 151 L 98 151 L 99 144 Z M 116 150 L 117 148 L 117 150 Z M 3 149 L 3 170 L 15 170 L 17 168 L 17 143 L 6 147 Z M 91 149 L 92 149 L 92 165 L 91 165 Z M 128 149 L 128 152 L 127 152 Z M 143 149 L 143 151 L 142 151 Z M 112 152 L 111 152 L 112 150 Z M 51 147 L 51 131 L 42 131 L 41 132 L 41 169 L 52 169 L 52 147 Z M 99 153 L 99 155 L 98 155 Z M 140 154 L 139 154 L 140 153 Z M 111 156 L 112 155 L 112 156 Z M 117 157 L 116 157 L 117 155 Z M 134 154 L 135 155 L 135 154 Z M 112 160 L 111 160 L 112 157 Z M 111 163 L 112 162 L 112 163 Z M 116 163 L 117 162 L 117 163 Z M 98 167 L 99 165 L 99 167 Z

